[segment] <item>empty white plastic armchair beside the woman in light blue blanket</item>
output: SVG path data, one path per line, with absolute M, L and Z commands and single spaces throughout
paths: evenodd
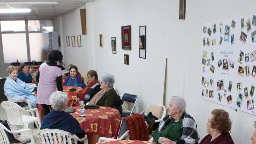
M 3 101 L 1 106 L 5 109 L 8 117 L 8 121 L 14 123 L 15 125 L 22 125 L 23 129 L 27 129 L 29 124 L 35 122 L 35 125 L 38 129 L 41 127 L 41 121 L 38 113 L 38 109 L 29 109 L 25 110 L 18 104 L 10 101 Z M 34 112 L 35 116 L 22 115 L 23 113 L 31 113 Z

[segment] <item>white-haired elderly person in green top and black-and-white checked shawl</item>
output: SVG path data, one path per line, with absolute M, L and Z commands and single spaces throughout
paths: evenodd
M 185 99 L 172 96 L 167 108 L 168 116 L 163 118 L 152 135 L 153 141 L 161 144 L 198 143 L 197 125 L 185 110 Z

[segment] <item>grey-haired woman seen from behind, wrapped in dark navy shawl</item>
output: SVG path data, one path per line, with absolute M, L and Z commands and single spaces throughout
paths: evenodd
M 43 118 L 40 129 L 61 129 L 83 138 L 85 132 L 77 119 L 64 111 L 67 105 L 67 95 L 64 92 L 56 91 L 51 94 L 49 101 L 52 110 Z

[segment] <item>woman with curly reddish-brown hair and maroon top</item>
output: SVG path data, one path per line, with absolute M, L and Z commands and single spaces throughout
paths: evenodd
M 208 118 L 207 136 L 199 144 L 234 144 L 229 132 L 231 130 L 231 120 L 228 113 L 223 109 L 214 109 Z

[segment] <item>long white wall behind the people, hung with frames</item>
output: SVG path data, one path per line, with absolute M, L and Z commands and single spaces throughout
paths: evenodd
M 152 75 L 153 56 L 167 57 L 166 106 L 171 96 L 183 96 L 187 111 L 198 124 L 203 138 L 206 122 L 213 109 L 225 109 L 233 121 L 231 136 L 235 143 L 250 143 L 255 116 L 235 112 L 201 99 L 201 47 L 202 24 L 214 20 L 251 15 L 256 1 L 216 0 L 186 1 L 186 20 L 178 19 L 179 1 L 170 0 L 96 0 L 86 3 L 87 35 L 82 35 L 82 48 L 64 47 L 66 63 L 73 63 L 79 71 L 97 70 L 99 76 L 115 76 L 115 88 L 121 93 L 138 95 L 137 111 L 146 110 L 158 99 L 148 99 L 151 83 L 158 79 Z M 79 9 L 62 15 L 63 39 L 66 35 L 80 35 Z M 132 48 L 121 49 L 121 26 L 131 25 Z M 138 26 L 147 26 L 147 59 L 139 58 Z M 99 47 L 99 34 L 104 35 L 104 48 Z M 117 54 L 111 53 L 110 37 L 116 37 Z M 71 37 L 70 37 L 71 39 Z M 65 45 L 65 42 L 64 42 Z M 123 54 L 129 54 L 129 65 Z M 185 86 L 184 86 L 185 84 Z

